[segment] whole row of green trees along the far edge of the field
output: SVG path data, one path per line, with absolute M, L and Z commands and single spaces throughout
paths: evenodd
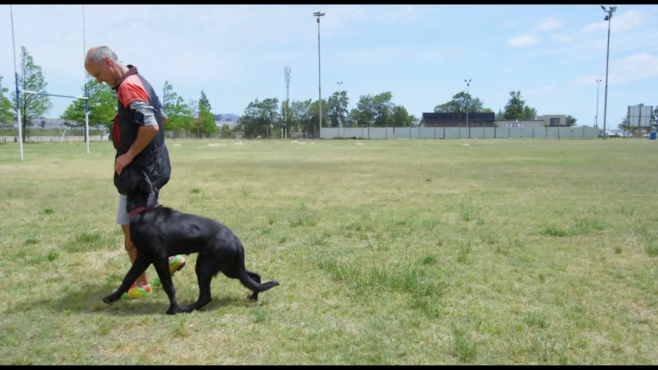
M 41 66 L 34 62 L 26 47 L 21 47 L 21 63 L 18 73 L 18 87 L 28 90 L 47 93 L 47 82 L 43 76 Z M 0 75 L 0 124 L 11 126 L 16 122 L 16 94 L 13 89 L 3 88 L 3 76 Z M 81 88 L 83 94 L 85 87 Z M 10 92 L 11 91 L 11 92 Z M 116 93 L 107 86 L 99 84 L 94 78 L 88 83 L 88 112 L 89 127 L 105 128 L 112 126 L 117 111 Z M 495 113 L 497 120 L 531 120 L 536 119 L 537 111 L 530 107 L 521 97 L 521 92 L 510 92 L 507 104 Z M 318 100 L 292 100 L 279 101 L 276 97 L 255 99 L 241 115 L 236 126 L 230 128 L 228 124 L 217 127 L 213 119 L 212 107 L 205 92 L 201 90 L 199 99 L 185 99 L 174 92 L 168 81 L 164 82 L 161 102 L 169 117 L 164 125 L 165 132 L 176 132 L 185 137 L 193 132 L 197 135 L 211 136 L 221 134 L 222 137 L 232 137 L 235 132 L 241 132 L 245 138 L 286 137 L 292 132 L 302 134 L 318 134 L 320 125 L 318 115 Z M 403 105 L 393 103 L 391 92 L 382 92 L 377 95 L 361 95 L 356 107 L 348 110 L 349 97 L 347 91 L 334 92 L 328 99 L 321 99 L 322 126 L 324 127 L 407 127 L 418 126 L 420 117 L 409 114 Z M 47 95 L 20 94 L 20 115 L 23 140 L 29 136 L 28 129 L 34 126 L 36 120 L 43 119 L 43 115 L 52 108 Z M 450 101 L 434 107 L 436 113 L 493 113 L 490 108 L 484 107 L 484 102 L 467 92 L 458 92 Z M 657 126 L 658 105 L 653 111 L 653 125 Z M 60 116 L 64 124 L 70 128 L 84 128 L 85 101 L 74 99 Z M 45 121 L 44 121 L 45 122 Z M 576 119 L 567 116 L 567 124 L 572 126 Z M 625 123 L 622 121 L 620 127 Z

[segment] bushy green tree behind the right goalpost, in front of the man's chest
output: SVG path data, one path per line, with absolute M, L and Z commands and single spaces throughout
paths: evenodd
M 82 96 L 85 88 L 82 86 Z M 89 80 L 88 85 L 89 127 L 103 127 L 111 130 L 114 115 L 117 112 L 116 97 L 114 91 L 107 84 L 99 84 L 95 78 Z M 85 101 L 75 99 L 66 107 L 66 111 L 59 116 L 68 127 L 84 127 L 85 125 Z

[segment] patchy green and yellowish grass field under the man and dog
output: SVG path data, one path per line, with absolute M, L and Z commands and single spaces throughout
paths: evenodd
M 281 284 L 174 316 L 101 301 L 130 267 L 109 142 L 0 145 L 0 364 L 658 363 L 658 142 L 299 141 L 168 142 L 161 203 Z

